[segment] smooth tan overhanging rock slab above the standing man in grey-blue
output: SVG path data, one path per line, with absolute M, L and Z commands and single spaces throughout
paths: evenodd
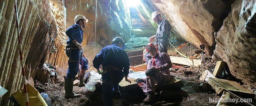
M 209 55 L 215 46 L 214 32 L 218 31 L 234 0 L 143 0 L 150 1 L 182 37 L 199 48 L 203 44 Z M 152 3 L 152 4 L 151 4 Z M 181 38 L 179 38 L 181 39 Z

